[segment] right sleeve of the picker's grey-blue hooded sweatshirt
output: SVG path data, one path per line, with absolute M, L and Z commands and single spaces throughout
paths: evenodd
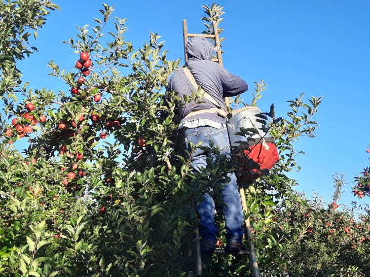
M 241 77 L 231 74 L 220 66 L 218 69 L 222 83 L 222 97 L 236 96 L 248 90 L 247 83 Z

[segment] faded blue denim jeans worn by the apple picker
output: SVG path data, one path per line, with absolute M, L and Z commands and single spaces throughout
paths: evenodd
M 202 141 L 201 146 L 210 146 L 212 140 L 214 146 L 220 147 L 220 154 L 229 156 L 230 143 L 227 135 L 226 127 L 217 129 L 209 126 L 200 126 L 197 128 L 185 128 L 183 134 L 183 148 L 191 152 L 190 142 L 196 145 Z M 202 149 L 197 148 L 192 156 L 191 167 L 200 172 L 201 168 L 206 168 L 207 157 L 216 159 L 213 153 L 206 153 Z M 234 173 L 228 173 L 230 182 L 223 186 L 222 202 L 223 214 L 226 220 L 226 240 L 242 242 L 243 238 L 243 210 L 236 184 L 236 176 Z M 196 211 L 199 216 L 199 231 L 202 240 L 217 241 L 218 230 L 215 224 L 215 202 L 209 194 L 203 195 L 203 201 L 196 206 Z

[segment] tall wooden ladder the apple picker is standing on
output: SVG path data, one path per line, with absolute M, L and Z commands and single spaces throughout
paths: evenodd
M 218 51 L 216 52 L 217 53 L 217 58 L 212 58 L 212 61 L 219 63 L 219 65 L 221 67 L 223 67 L 220 37 L 219 37 L 219 32 L 218 32 L 218 29 L 217 29 L 216 21 L 212 21 L 212 29 L 213 29 L 213 34 L 214 35 L 189 34 L 189 33 L 187 33 L 186 19 L 183 20 L 185 62 L 187 61 L 186 43 L 187 43 L 188 38 L 200 36 L 200 37 L 205 37 L 205 38 L 211 38 L 211 39 L 214 40 L 214 42 L 215 42 L 214 46 L 217 47 Z M 225 100 L 225 104 L 228 106 L 228 104 L 229 104 L 228 99 L 225 98 L 224 100 Z M 243 211 L 244 211 L 244 213 L 246 213 L 247 212 L 247 204 L 246 204 L 246 200 L 245 200 L 244 188 L 242 186 L 239 186 L 239 194 L 240 194 L 240 201 L 242 203 Z M 215 210 L 215 214 L 220 214 L 220 213 L 222 213 L 222 209 L 216 209 Z M 249 249 L 242 250 L 237 255 L 249 255 L 249 264 L 251 266 L 252 277 L 259 277 L 256 251 L 255 251 L 255 246 L 253 244 L 252 229 L 251 229 L 251 224 L 249 222 L 249 218 L 244 220 L 243 227 L 244 227 L 245 237 L 246 237 L 247 241 L 249 242 Z M 196 237 L 196 274 L 197 274 L 197 276 L 201 276 L 202 275 L 202 258 L 201 258 L 201 253 L 200 253 L 199 227 L 197 227 L 195 229 L 195 237 Z M 226 254 L 232 254 L 232 253 L 229 253 L 225 249 L 216 249 L 214 254 L 226 255 Z

